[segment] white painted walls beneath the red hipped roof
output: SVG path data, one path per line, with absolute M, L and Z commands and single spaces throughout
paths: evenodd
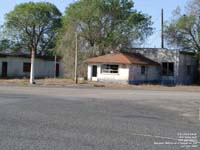
M 92 66 L 97 66 L 97 77 L 92 77 Z M 102 64 L 88 64 L 88 80 L 89 81 L 102 81 L 102 82 L 118 82 L 129 83 L 129 81 L 159 81 L 160 69 L 159 66 L 148 66 L 146 75 L 141 75 L 141 65 L 119 65 L 118 73 L 102 73 Z

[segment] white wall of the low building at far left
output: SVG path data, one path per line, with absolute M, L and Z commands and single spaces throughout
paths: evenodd
M 23 64 L 30 63 L 30 58 L 23 57 L 2 57 L 0 58 L 0 76 L 2 75 L 2 62 L 7 62 L 7 75 L 10 78 L 28 77 L 29 72 L 23 72 Z M 58 62 L 59 63 L 59 62 Z M 60 64 L 60 76 L 62 76 L 63 66 Z M 36 77 L 54 77 L 54 61 L 47 61 L 36 58 L 35 61 L 35 76 Z

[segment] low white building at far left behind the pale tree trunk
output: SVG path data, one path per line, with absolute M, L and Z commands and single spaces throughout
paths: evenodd
M 30 55 L 0 54 L 0 76 L 1 78 L 23 78 L 30 76 Z M 55 63 L 54 58 L 47 56 L 36 56 L 35 77 L 57 77 L 62 76 L 62 66 L 59 61 Z

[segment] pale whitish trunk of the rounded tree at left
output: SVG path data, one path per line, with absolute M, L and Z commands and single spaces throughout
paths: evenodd
M 31 50 L 30 84 L 35 84 L 35 48 Z

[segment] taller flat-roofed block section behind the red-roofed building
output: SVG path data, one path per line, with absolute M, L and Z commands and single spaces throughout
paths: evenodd
M 140 53 L 160 64 L 161 84 L 193 84 L 197 75 L 197 59 L 193 53 L 161 48 L 132 48 L 129 53 Z

